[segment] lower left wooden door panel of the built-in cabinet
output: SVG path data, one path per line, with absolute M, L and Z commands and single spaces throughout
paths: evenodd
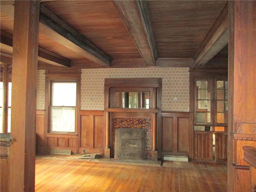
M 194 137 L 194 159 L 212 161 L 212 131 L 195 131 Z

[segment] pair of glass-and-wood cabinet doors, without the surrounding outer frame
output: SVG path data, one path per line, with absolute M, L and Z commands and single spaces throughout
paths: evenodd
M 194 80 L 194 160 L 226 160 L 228 81 Z

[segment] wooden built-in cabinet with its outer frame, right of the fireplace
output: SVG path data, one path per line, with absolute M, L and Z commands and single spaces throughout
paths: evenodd
M 192 159 L 227 161 L 228 69 L 190 68 Z

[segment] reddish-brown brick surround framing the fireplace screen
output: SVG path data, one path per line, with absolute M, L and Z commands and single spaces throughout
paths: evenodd
M 114 157 L 115 133 L 118 128 L 144 129 L 146 130 L 146 160 L 152 159 L 152 120 L 151 118 L 112 118 L 112 150 L 111 157 Z

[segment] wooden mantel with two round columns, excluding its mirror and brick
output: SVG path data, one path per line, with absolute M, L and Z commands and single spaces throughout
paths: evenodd
M 149 92 L 150 93 L 150 108 L 149 109 L 129 109 L 116 108 L 116 92 Z M 110 150 L 113 150 L 110 144 L 112 137 L 112 114 L 142 114 L 152 115 L 152 160 L 158 160 L 160 153 L 157 136 L 160 135 L 161 123 L 161 99 L 162 98 L 162 78 L 106 78 L 104 82 L 104 130 L 106 132 L 106 145 L 104 150 L 105 158 L 110 158 Z

